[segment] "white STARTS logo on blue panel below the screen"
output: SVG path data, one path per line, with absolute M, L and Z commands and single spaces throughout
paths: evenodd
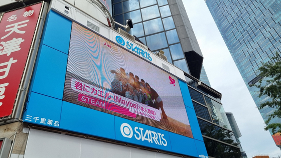
M 158 145 L 167 146 L 167 140 L 164 138 L 164 134 L 157 133 L 152 130 L 145 130 L 141 127 L 132 127 L 128 123 L 122 123 L 120 126 L 121 134 L 127 138 L 135 138 L 137 140 L 148 141 L 150 143 L 156 143 Z M 135 133 L 135 134 L 134 134 Z

